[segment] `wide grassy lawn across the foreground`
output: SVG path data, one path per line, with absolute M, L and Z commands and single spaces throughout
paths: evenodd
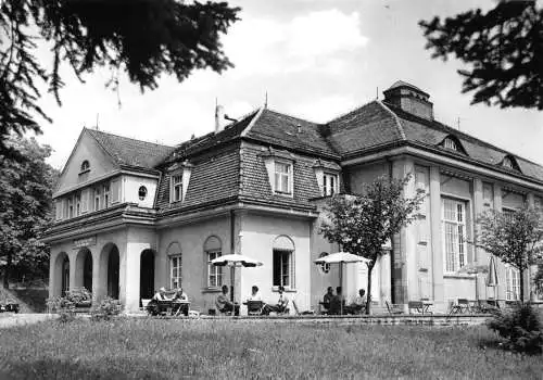
M 541 379 L 541 356 L 495 341 L 485 327 L 47 321 L 1 331 L 0 378 Z

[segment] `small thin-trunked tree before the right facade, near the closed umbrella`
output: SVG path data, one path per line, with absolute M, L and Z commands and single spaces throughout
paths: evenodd
M 519 270 L 520 301 L 525 301 L 525 271 L 535 263 L 543 240 L 540 213 L 522 207 L 513 213 L 490 211 L 479 218 L 477 245 Z

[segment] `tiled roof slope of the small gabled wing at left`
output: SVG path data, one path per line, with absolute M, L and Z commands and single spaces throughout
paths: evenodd
M 152 169 L 174 150 L 172 147 L 130 139 L 97 129 L 86 129 L 86 131 L 119 165 Z

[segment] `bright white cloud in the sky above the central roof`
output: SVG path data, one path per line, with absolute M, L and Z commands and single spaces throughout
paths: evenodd
M 226 54 L 236 64 L 233 76 L 315 71 L 338 73 L 343 68 L 339 53 L 365 47 L 357 12 L 339 10 L 311 12 L 279 22 L 248 18 L 235 25 L 225 38 Z

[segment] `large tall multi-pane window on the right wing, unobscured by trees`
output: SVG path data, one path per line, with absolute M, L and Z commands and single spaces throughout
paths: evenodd
M 454 273 L 466 265 L 466 203 L 442 199 L 442 229 L 445 271 Z

